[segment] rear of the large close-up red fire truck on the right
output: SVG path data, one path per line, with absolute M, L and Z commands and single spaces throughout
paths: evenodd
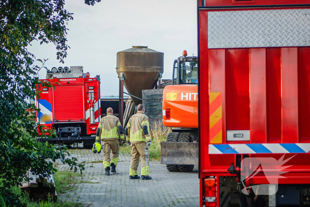
M 198 1 L 200 206 L 310 205 L 308 0 Z

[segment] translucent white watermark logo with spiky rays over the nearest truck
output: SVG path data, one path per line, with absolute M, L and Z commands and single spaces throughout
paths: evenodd
M 295 156 L 295 155 L 294 155 Z M 284 159 L 284 155 L 276 160 L 273 157 L 246 157 L 241 161 L 241 184 L 243 189 L 241 190 L 243 194 L 249 195 L 250 190 L 254 192 L 255 195 L 274 195 L 278 191 L 278 179 L 286 178 L 282 176 L 283 173 L 288 173 L 289 171 L 282 171 L 293 165 L 283 166 L 287 161 L 292 159 Z M 267 184 L 251 185 L 251 179 L 259 179 L 260 182 L 265 182 Z M 239 183 L 240 184 L 240 183 Z

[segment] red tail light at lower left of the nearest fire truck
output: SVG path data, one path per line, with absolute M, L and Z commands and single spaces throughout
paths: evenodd
M 204 202 L 208 207 L 216 206 L 216 182 L 215 178 L 206 178 L 204 180 Z

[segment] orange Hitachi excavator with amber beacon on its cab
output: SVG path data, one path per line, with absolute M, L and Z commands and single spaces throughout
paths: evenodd
M 161 164 L 168 171 L 191 172 L 198 163 L 198 58 L 183 56 L 174 61 L 172 85 L 162 101 L 163 124 L 172 127 L 161 143 Z

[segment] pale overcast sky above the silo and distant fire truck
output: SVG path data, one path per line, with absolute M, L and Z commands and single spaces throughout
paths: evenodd
M 74 13 L 67 39 L 71 49 L 61 64 L 53 44 L 32 42 L 36 58 L 49 59 L 45 66 L 78 66 L 91 77 L 100 75 L 101 96 L 118 95 L 116 53 L 134 45 L 164 52 L 164 79 L 171 79 L 173 61 L 197 56 L 197 0 L 102 0 L 87 6 L 83 0 L 65 0 Z M 39 64 L 39 63 L 37 63 Z M 45 79 L 46 71 L 39 72 Z

